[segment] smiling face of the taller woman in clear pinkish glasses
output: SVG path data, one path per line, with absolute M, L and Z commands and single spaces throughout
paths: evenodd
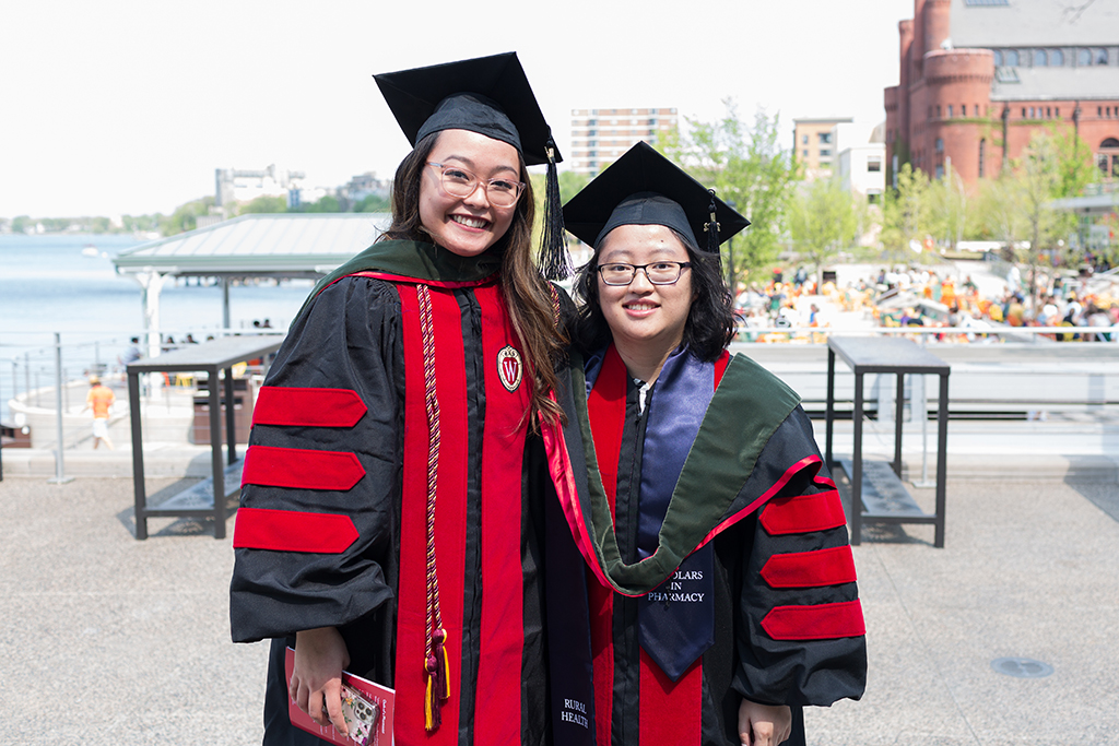
M 425 167 L 420 183 L 420 221 L 434 242 L 459 256 L 478 256 L 500 239 L 513 224 L 517 205 L 495 207 L 486 181 L 520 181 L 520 159 L 513 145 L 467 130 L 444 130 L 427 158 L 460 166 L 480 180 L 467 197 L 446 193 L 438 168 Z

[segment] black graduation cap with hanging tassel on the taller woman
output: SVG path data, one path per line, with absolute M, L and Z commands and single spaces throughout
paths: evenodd
M 517 53 L 383 73 L 374 79 L 413 148 L 432 132 L 468 130 L 509 143 L 528 166 L 547 163 L 540 271 L 549 280 L 571 274 L 556 173 L 563 158 Z

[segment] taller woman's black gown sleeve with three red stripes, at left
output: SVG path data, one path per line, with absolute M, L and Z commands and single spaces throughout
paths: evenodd
M 395 287 L 368 277 L 327 287 L 292 327 L 257 399 L 255 415 L 282 424 L 256 422 L 245 455 L 234 641 L 340 626 L 393 597 L 403 397 Z

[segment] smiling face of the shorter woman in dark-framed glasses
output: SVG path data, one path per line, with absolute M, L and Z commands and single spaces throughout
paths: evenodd
M 669 228 L 623 225 L 606 234 L 596 264 L 622 262 L 640 266 L 688 261 L 687 248 Z M 679 346 L 692 310 L 689 268 L 684 268 L 673 285 L 653 285 L 641 270 L 629 285 L 608 285 L 601 275 L 596 282 L 599 305 L 619 351 L 628 349 L 662 360 Z

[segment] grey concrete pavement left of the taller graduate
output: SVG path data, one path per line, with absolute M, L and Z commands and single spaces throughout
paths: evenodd
M 0 482 L 0 744 L 260 743 L 266 649 L 229 642 L 231 540 L 159 519 L 137 541 L 131 504 L 131 479 Z

